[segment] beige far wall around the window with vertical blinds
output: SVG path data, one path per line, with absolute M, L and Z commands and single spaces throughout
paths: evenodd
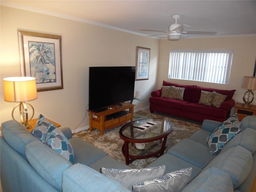
M 172 49 L 206 49 L 233 50 L 232 68 L 229 84 L 214 84 L 206 82 L 168 79 L 170 50 Z M 193 38 L 179 41 L 160 41 L 157 88 L 161 88 L 163 80 L 188 85 L 198 85 L 224 90 L 235 89 L 234 100 L 243 102 L 241 95 L 246 92 L 241 88 L 243 76 L 252 76 L 256 58 L 256 36 L 226 37 L 226 38 Z M 256 91 L 254 91 L 256 94 Z M 256 104 L 256 99 L 254 100 Z

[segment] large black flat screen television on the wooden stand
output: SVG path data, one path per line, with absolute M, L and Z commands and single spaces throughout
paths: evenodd
M 100 112 L 134 98 L 135 66 L 89 67 L 89 110 Z

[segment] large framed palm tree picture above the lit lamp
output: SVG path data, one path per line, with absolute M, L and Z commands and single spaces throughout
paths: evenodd
M 21 76 L 36 78 L 37 91 L 63 89 L 61 36 L 18 30 Z

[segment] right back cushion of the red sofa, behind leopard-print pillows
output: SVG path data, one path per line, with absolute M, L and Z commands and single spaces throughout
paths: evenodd
M 208 92 L 215 91 L 215 92 L 220 93 L 222 95 L 227 95 L 226 100 L 232 99 L 232 97 L 234 95 L 234 92 L 236 91 L 236 90 L 221 90 L 221 89 L 213 89 L 213 88 L 195 86 L 194 92 L 193 92 L 193 94 L 191 94 L 191 96 L 192 96 L 191 97 L 191 102 L 194 102 L 194 103 L 199 102 L 202 90 L 203 91 L 208 91 Z

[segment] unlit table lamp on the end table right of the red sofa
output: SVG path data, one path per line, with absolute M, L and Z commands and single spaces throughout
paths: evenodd
M 254 99 L 252 90 L 256 90 L 256 77 L 244 76 L 241 87 L 247 89 L 243 96 L 243 106 L 249 108 Z

